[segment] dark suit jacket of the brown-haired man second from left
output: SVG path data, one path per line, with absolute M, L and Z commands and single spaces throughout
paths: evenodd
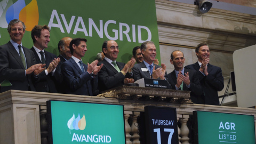
M 36 63 L 42 63 L 42 61 L 40 60 L 40 58 L 38 57 L 38 54 L 36 53 L 36 50 L 34 49 L 34 47 L 32 47 L 30 49 L 31 51 L 34 52 L 35 58 L 36 58 Z M 54 58 L 57 58 L 56 55 L 44 51 L 44 55 L 45 55 L 45 64 L 46 64 L 46 68 L 49 67 L 51 61 Z M 54 75 L 52 76 L 52 74 L 48 74 L 46 76 L 45 71 L 42 71 L 42 73 L 39 74 L 38 79 L 36 81 L 34 81 L 35 84 L 35 88 L 37 92 L 52 92 L 52 93 L 58 93 L 56 87 L 55 87 L 55 81 L 58 81 L 58 79 L 60 79 L 60 75 L 58 74 L 58 70 L 55 70 Z

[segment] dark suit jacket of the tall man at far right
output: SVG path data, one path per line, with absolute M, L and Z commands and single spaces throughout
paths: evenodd
M 210 63 L 207 65 L 208 76 L 204 76 L 201 71 L 199 71 L 200 66 L 198 62 L 188 65 L 185 68 L 193 69 L 197 71 L 199 81 L 202 86 L 205 105 L 220 105 L 218 91 L 221 91 L 224 88 L 224 78 L 222 76 L 221 68 L 213 66 Z

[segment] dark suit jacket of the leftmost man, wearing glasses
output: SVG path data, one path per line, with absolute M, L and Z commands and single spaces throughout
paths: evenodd
M 35 55 L 32 51 L 23 46 L 26 57 L 27 68 L 36 64 Z M 0 46 L 0 82 L 7 79 L 12 86 L 1 86 L 1 92 L 7 90 L 35 91 L 31 76 L 25 75 L 26 68 L 23 66 L 19 53 L 15 50 L 12 43 Z M 30 86 L 30 87 L 29 87 Z

